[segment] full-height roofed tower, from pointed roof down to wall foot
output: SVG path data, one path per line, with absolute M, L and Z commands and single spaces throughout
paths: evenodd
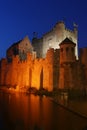
M 59 72 L 59 88 L 68 89 L 73 87 L 73 68 L 72 65 L 76 61 L 75 46 L 71 40 L 66 38 L 60 43 L 60 72 Z

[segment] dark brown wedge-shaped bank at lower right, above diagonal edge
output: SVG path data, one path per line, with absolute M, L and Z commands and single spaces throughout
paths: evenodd
M 87 119 L 87 100 L 68 100 L 58 96 L 50 98 L 51 101 L 73 114 Z

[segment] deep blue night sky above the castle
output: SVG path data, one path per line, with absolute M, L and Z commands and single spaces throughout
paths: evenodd
M 78 43 L 87 46 L 87 0 L 0 0 L 0 58 L 6 49 L 33 32 L 42 36 L 57 21 L 72 29 L 78 24 Z

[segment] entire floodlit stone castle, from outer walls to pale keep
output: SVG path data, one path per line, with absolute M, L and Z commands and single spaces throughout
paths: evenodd
M 78 56 L 78 30 L 65 28 L 64 22 L 42 38 L 28 37 L 12 44 L 0 61 L 0 85 L 18 90 L 87 88 L 87 48 Z

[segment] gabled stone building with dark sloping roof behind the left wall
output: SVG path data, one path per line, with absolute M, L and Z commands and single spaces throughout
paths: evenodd
M 12 46 L 10 46 L 7 49 L 6 57 L 9 62 L 12 61 L 13 55 L 14 56 L 19 55 L 20 60 L 25 60 L 27 53 L 32 51 L 33 51 L 33 47 L 31 45 L 28 36 L 26 36 L 24 39 L 12 44 Z

